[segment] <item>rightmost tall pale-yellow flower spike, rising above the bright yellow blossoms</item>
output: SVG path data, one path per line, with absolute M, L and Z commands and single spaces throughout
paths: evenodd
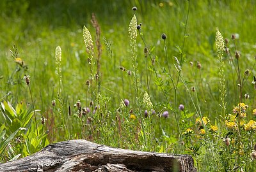
M 225 97 L 227 96 L 227 90 L 225 89 L 225 74 L 224 74 L 224 68 L 225 64 L 223 62 L 223 52 L 225 51 L 224 46 L 224 40 L 221 36 L 221 32 L 217 30 L 216 32 L 216 50 L 217 50 L 217 56 L 218 56 L 218 62 L 219 62 L 219 75 L 220 75 L 220 99 L 221 99 L 221 115 L 223 119 L 225 119 L 225 110 L 226 110 L 226 102 Z

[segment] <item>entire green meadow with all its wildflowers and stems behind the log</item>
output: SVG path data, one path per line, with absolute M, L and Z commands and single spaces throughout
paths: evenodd
M 86 139 L 253 171 L 253 3 L 3 1 L 1 162 Z

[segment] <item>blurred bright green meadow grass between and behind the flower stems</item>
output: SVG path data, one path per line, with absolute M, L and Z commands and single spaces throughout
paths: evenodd
M 42 143 L 39 146 L 39 143 L 35 143 L 33 148 L 27 145 L 26 150 L 31 150 L 31 152 L 23 151 L 21 157 L 29 153 L 32 154 L 47 145 L 48 142 L 45 141 L 45 137 L 50 143 L 83 138 L 114 147 L 192 154 L 200 171 L 228 171 L 234 168 L 237 165 L 235 161 L 238 155 L 231 154 L 231 150 L 227 150 L 222 140 L 226 135 L 230 138 L 239 138 L 239 136 L 236 137 L 236 131 L 225 128 L 224 119 L 220 117 L 222 113 L 219 105 L 221 103 L 221 92 L 219 91 L 221 78 L 218 74 L 219 63 L 215 48 L 215 34 L 216 29 L 219 29 L 223 38 L 229 39 L 228 47 L 235 63 L 235 47 L 231 35 L 239 34 L 239 38 L 236 39 L 236 48 L 241 54 L 239 59 L 241 76 L 243 77 L 246 69 L 250 69 L 252 73 L 244 82 L 241 93 L 242 96 L 246 93 L 250 95 L 250 99 L 245 100 L 243 98 L 243 102 L 249 106 L 246 117 L 246 120 L 249 121 L 254 118 L 252 110 L 256 108 L 255 89 L 252 85 L 253 74 L 255 73 L 255 70 L 252 69 L 255 62 L 256 34 L 253 32 L 253 28 L 256 26 L 254 22 L 256 16 L 255 1 L 190 1 L 186 27 L 188 37 L 185 39 L 184 51 L 182 52 L 184 62 L 182 64 L 182 78 L 180 78 L 173 65 L 176 64 L 173 56 L 180 60 L 180 52 L 177 47 L 183 45 L 188 4 L 189 1 L 121 2 L 114 0 L 108 2 L 40 1 L 36 4 L 25 0 L 4 0 L 0 4 L 0 97 L 4 97 L 9 91 L 12 94 L 4 97 L 1 101 L 10 101 L 12 106 L 16 106 L 20 101 L 24 104 L 31 104 L 29 89 L 22 80 L 24 75 L 29 75 L 35 108 L 40 110 L 40 112 L 36 112 L 37 118 L 42 116 L 47 118 L 45 125 L 42 125 L 38 120 L 40 132 L 49 130 L 49 133 L 42 137 Z M 143 39 L 145 39 L 148 48 L 152 50 L 152 57 L 157 59 L 154 65 L 156 71 L 148 69 L 148 77 L 151 76 L 148 94 L 156 113 L 161 115 L 163 111 L 167 110 L 169 112 L 168 118 L 159 118 L 157 115 L 149 118 L 143 117 L 144 111 L 148 108 L 143 104 L 143 94 L 147 90 L 147 66 L 144 55 L 145 46 L 140 36 L 136 39 L 138 76 L 140 76 L 139 82 L 141 83 L 139 96 L 136 95 L 136 89 L 133 87 L 134 73 L 129 76 L 125 71 L 120 70 L 120 66 L 122 66 L 134 72 L 128 37 L 129 22 L 134 13 L 131 10 L 132 6 L 138 7 L 138 11 L 135 13 L 138 24 L 142 24 Z M 88 55 L 83 43 L 83 25 L 86 25 L 91 32 L 95 43 L 95 29 L 90 22 L 92 13 L 95 13 L 102 32 L 100 38 L 102 45 L 99 73 L 100 95 L 96 92 L 92 94 L 95 83 L 92 83 L 90 92 L 87 92 L 86 87 L 86 80 L 90 80 L 91 73 L 87 62 Z M 164 72 L 168 71 L 168 65 L 164 52 L 164 41 L 161 39 L 162 33 L 167 35 L 166 51 L 171 69 L 170 73 Z M 103 38 L 111 42 L 112 57 L 106 50 Z M 25 62 L 28 71 L 22 68 L 13 75 L 13 71 L 19 68 L 19 64 L 15 63 L 10 53 L 10 50 L 13 50 L 13 45 L 17 46 L 19 52 L 17 57 Z M 55 48 L 58 45 L 62 50 L 62 91 L 59 97 L 59 78 L 56 75 L 55 61 Z M 97 54 L 96 49 L 95 46 L 95 54 Z M 226 113 L 232 113 L 234 106 L 239 103 L 239 88 L 237 87 L 239 82 L 236 69 L 234 66 L 231 69 L 228 64 L 229 58 L 227 54 L 223 58 L 225 64 L 223 73 L 225 75 L 225 89 L 227 90 Z M 202 64 L 201 69 L 196 68 L 198 61 Z M 149 56 L 147 62 L 151 68 Z M 189 62 L 193 62 L 193 67 L 190 66 Z M 179 78 L 176 100 L 170 75 L 172 75 L 175 83 Z M 182 83 L 181 79 L 184 79 L 186 83 Z M 157 83 L 161 87 L 157 86 Z M 189 90 L 191 87 L 196 87 L 197 95 L 190 91 L 193 99 L 189 97 L 186 86 Z M 136 101 L 136 97 L 140 97 L 139 101 Z M 61 101 L 58 101 L 58 98 L 61 98 Z M 53 107 L 52 100 L 54 99 L 56 106 Z M 120 101 L 124 99 L 129 99 L 128 107 L 120 107 Z M 90 102 L 93 101 L 94 104 L 90 107 L 91 112 L 97 105 L 100 105 L 100 110 L 95 115 L 89 113 L 86 117 L 79 118 L 79 110 L 77 113 L 77 108 L 74 107 L 77 100 L 81 101 L 81 108 L 90 107 Z M 193 105 L 193 102 L 196 106 Z M 179 104 L 184 104 L 185 111 L 179 111 Z M 71 107 L 71 117 L 68 117 L 68 106 Z M 136 120 L 129 119 L 131 109 L 137 117 Z M 195 120 L 198 117 L 196 110 L 199 109 L 202 117 L 209 117 L 211 124 L 218 126 L 218 134 L 206 133 L 205 136 L 196 138 L 198 135 L 198 128 L 195 125 Z M 150 111 L 150 109 L 147 110 Z M 179 120 L 178 124 L 175 115 Z M 92 117 L 93 122 L 86 125 L 88 117 Z M 1 117 L 1 119 L 4 118 Z M 28 128 L 31 127 L 31 131 L 35 132 L 33 121 L 34 119 L 31 119 Z M 1 121 L 1 125 L 6 126 L 6 122 Z M 180 127 L 180 133 L 178 133 L 177 125 Z M 146 133 L 141 133 L 143 131 L 141 126 L 147 131 Z M 22 127 L 21 124 L 20 127 Z M 44 127 L 43 130 L 41 130 L 42 127 Z M 191 140 L 181 135 L 187 128 L 192 128 L 195 131 Z M 8 127 L 2 127 L 1 131 L 4 130 L 6 130 L 6 136 L 3 139 L 6 139 L 11 133 L 8 133 Z M 19 131 L 17 135 L 20 138 L 24 137 L 24 141 L 21 143 L 31 140 L 32 135 L 36 136 L 31 131 L 29 128 L 29 132 L 23 135 L 21 134 L 22 131 Z M 228 132 L 235 134 L 229 135 Z M 29 133 L 33 134 L 29 135 Z M 243 166 L 243 169 L 250 170 L 255 165 L 255 162 L 250 159 L 255 138 L 253 132 L 243 134 L 241 137 L 246 138 L 243 145 L 245 153 L 241 155 L 242 161 L 238 165 Z M 183 143 L 185 145 L 182 145 Z M 14 140 L 12 144 L 17 145 Z M 189 148 L 196 150 L 198 145 L 200 145 L 198 152 L 189 151 Z M 22 145 L 17 146 L 17 152 L 4 154 L 1 161 L 8 161 L 19 153 L 18 150 L 22 152 L 24 148 Z M 209 148 L 211 148 L 211 152 L 208 152 Z M 236 144 L 234 151 L 237 151 Z M 214 158 L 212 158 L 212 153 Z M 220 169 L 217 169 L 218 166 L 214 166 L 214 162 L 219 163 L 217 165 Z M 221 164 L 224 162 L 227 164 Z M 230 164 L 228 164 L 229 162 Z M 248 167 L 246 168 L 246 166 Z

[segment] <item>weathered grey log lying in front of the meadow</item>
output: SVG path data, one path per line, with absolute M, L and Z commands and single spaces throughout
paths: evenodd
M 193 163 L 190 155 L 140 152 L 70 140 L 0 164 L 0 171 L 196 171 Z

